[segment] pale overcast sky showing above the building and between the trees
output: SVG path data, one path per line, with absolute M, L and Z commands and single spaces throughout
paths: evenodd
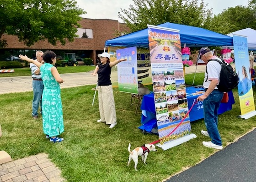
M 87 14 L 83 18 L 90 19 L 112 19 L 122 22 L 118 18 L 120 9 L 127 9 L 133 5 L 133 0 L 76 0 L 78 7 L 82 8 Z M 200 2 L 200 0 L 199 0 Z M 204 0 L 208 3 L 207 9 L 213 8 L 213 14 L 219 14 L 224 9 L 237 5 L 247 5 L 248 0 Z

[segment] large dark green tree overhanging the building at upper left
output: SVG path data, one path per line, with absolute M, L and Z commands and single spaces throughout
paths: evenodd
M 39 40 L 62 45 L 74 40 L 80 15 L 75 0 L 0 0 L 0 46 L 2 35 L 16 35 L 27 46 Z M 4 38 L 4 37 L 3 37 Z

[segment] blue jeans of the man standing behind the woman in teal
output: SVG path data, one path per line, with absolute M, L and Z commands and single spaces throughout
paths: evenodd
M 33 86 L 33 101 L 32 101 L 32 116 L 37 116 L 38 108 L 40 105 L 40 113 L 42 114 L 42 94 L 43 94 L 43 81 L 32 81 Z

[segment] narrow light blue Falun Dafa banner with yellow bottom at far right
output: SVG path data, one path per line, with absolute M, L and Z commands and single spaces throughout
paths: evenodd
M 255 111 L 247 37 L 234 35 L 235 70 L 239 76 L 238 95 L 241 115 Z

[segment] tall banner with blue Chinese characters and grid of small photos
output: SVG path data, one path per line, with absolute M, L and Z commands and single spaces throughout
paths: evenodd
M 179 30 L 148 25 L 155 113 L 160 144 L 191 134 Z M 166 137 L 168 136 L 168 137 Z

